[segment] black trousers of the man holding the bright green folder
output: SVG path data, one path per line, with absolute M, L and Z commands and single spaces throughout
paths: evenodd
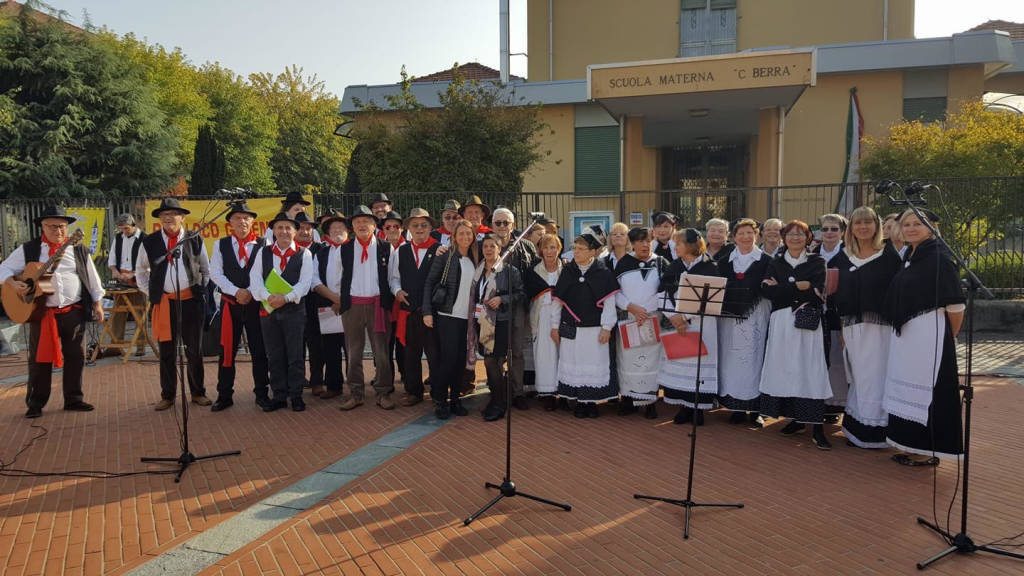
M 263 345 L 270 367 L 270 389 L 274 400 L 302 398 L 306 368 L 303 362 L 305 344 L 302 333 L 306 327 L 306 308 L 302 304 L 285 304 L 269 316 L 260 318 Z

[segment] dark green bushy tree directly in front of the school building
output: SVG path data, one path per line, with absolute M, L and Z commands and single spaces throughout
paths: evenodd
M 458 65 L 453 73 L 436 110 L 416 99 L 404 68 L 399 93 L 387 101 L 395 112 L 356 102 L 360 150 L 350 170 L 364 193 L 492 193 L 493 203 L 511 205 L 522 192 L 523 175 L 544 154 L 537 139 L 546 127 L 541 105 L 513 102 L 495 83 L 467 81 Z M 385 118 L 395 113 L 397 130 Z

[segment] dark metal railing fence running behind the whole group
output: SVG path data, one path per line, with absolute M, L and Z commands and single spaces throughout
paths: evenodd
M 902 182 L 906 184 L 908 182 Z M 968 259 L 982 281 L 1002 295 L 1024 296 L 1024 176 L 994 178 L 955 178 L 930 180 L 936 188 L 925 196 L 928 207 L 942 221 L 944 237 Z M 650 214 L 668 210 L 677 214 L 682 225 L 702 228 L 714 217 L 733 220 L 753 217 L 759 221 L 777 217 L 782 220 L 802 219 L 816 227 L 818 216 L 834 212 L 841 197 L 850 195 L 852 204 L 866 204 L 880 214 L 897 211 L 888 198 L 874 192 L 873 182 L 858 184 L 810 184 L 768 188 L 684 189 L 623 192 L 605 196 L 571 192 L 478 193 L 489 206 L 506 206 L 516 214 L 516 221 L 528 221 L 531 212 L 544 212 L 571 233 L 575 223 L 592 221 L 647 224 Z M 411 208 L 426 208 L 439 214 L 444 201 L 464 201 L 472 193 L 411 193 L 394 194 L 395 209 L 407 213 Z M 114 234 L 114 218 L 120 213 L 132 213 L 144 221 L 145 198 L 113 200 L 82 199 L 72 201 L 77 206 L 105 207 L 106 231 L 99 253 L 105 254 Z M 191 200 L 205 200 L 193 197 Z M 367 196 L 347 194 L 314 195 L 317 211 L 325 207 L 350 213 Z M 0 201 L 0 230 L 3 231 L 2 252 L 10 250 L 33 235 L 32 224 L 46 200 L 8 199 Z

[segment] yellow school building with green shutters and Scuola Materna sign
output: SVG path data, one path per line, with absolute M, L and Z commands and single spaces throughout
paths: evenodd
M 581 210 L 625 211 L 620 191 L 807 187 L 745 195 L 739 210 L 813 220 L 812 184 L 856 177 L 846 174 L 851 116 L 854 131 L 883 138 L 894 123 L 939 119 L 986 92 L 1024 94 L 1024 39 L 998 30 L 915 39 L 913 0 L 526 7 L 527 77 L 506 89 L 513 101 L 543 102 L 552 130 L 524 192 L 570 193 Z M 446 84 L 435 78 L 413 85 L 428 108 Z M 386 106 L 397 91 L 348 86 L 341 113 L 358 122 L 356 99 Z M 658 198 L 650 208 L 678 208 Z

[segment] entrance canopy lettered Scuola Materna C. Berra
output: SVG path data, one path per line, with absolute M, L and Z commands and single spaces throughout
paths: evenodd
M 592 100 L 642 117 L 644 146 L 745 141 L 758 111 L 788 110 L 815 82 L 814 50 L 591 66 Z

